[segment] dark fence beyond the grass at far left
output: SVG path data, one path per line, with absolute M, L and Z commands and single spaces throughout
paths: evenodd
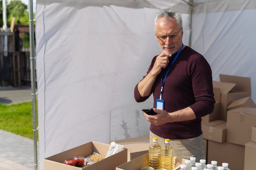
M 8 39 L 5 51 L 4 37 Z M 29 31 L 0 32 L 0 86 L 31 84 Z

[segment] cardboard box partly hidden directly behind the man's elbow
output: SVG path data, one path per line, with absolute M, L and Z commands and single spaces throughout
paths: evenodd
M 220 88 L 213 87 L 213 93 L 214 99 L 216 101 L 216 103 L 214 104 L 213 113 L 202 117 L 203 124 L 207 124 L 220 118 Z

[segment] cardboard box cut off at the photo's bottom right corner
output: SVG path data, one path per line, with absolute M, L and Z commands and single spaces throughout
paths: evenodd
M 256 169 L 256 143 L 248 142 L 245 144 L 245 166 L 244 170 Z

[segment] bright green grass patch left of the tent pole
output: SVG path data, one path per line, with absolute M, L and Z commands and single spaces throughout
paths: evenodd
M 32 102 L 13 105 L 0 103 L 0 129 L 33 139 Z

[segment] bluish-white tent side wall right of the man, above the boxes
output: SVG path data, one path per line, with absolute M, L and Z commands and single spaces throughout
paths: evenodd
M 217 7 L 217 12 L 213 13 L 212 7 Z M 195 7 L 194 11 L 192 48 L 210 63 L 213 80 L 219 81 L 219 74 L 250 77 L 256 102 L 256 2 L 219 0 Z

